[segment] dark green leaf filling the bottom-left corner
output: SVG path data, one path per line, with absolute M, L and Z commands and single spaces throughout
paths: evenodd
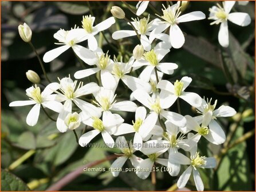
M 2 191 L 30 191 L 26 183 L 14 174 L 6 170 L 1 170 L 1 190 Z

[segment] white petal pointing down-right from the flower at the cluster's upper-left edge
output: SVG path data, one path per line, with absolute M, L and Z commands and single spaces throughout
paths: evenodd
M 97 57 L 89 49 L 86 49 L 85 47 L 82 47 L 81 45 L 74 45 L 74 46 L 72 46 L 72 49 L 74 50 L 74 53 L 76 53 L 77 56 L 80 59 L 82 59 L 82 61 L 84 61 L 86 64 L 95 65 L 95 63 L 97 62 Z

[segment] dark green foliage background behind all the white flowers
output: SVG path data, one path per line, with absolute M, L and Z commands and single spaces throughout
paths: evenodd
M 135 6 L 136 2 L 128 2 Z M 161 10 L 160 2 L 151 2 L 156 10 Z M 166 2 L 163 2 L 166 4 Z M 191 2 L 186 12 L 201 10 L 208 16 L 208 8 L 216 2 Z M 60 28 L 68 30 L 74 25 L 81 27 L 82 15 L 90 14 L 89 8 L 99 23 L 111 17 L 109 9 L 117 5 L 123 7 L 127 18 L 135 17 L 122 2 L 1 2 L 1 169 L 2 190 L 45 190 L 54 182 L 64 177 L 70 171 L 85 163 L 102 159 L 109 154 L 118 153 L 116 149 L 82 148 L 77 145 L 73 133 L 61 134 L 54 122 L 50 121 L 41 111 L 36 126 L 26 125 L 26 115 L 30 107 L 9 107 L 11 101 L 26 99 L 25 89 L 31 86 L 26 79 L 26 71 L 31 69 L 41 75 L 40 65 L 30 46 L 22 41 L 18 35 L 18 25 L 26 22 L 33 31 L 32 43 L 36 46 L 41 58 L 44 53 L 55 47 L 56 39 L 53 34 Z M 170 81 L 188 75 L 192 77 L 190 91 L 202 97 L 218 99 L 218 105 L 226 103 L 241 115 L 236 119 L 220 119 L 227 135 L 233 136 L 231 142 L 241 138 L 243 134 L 254 130 L 254 78 L 255 78 L 255 10 L 254 2 L 247 6 L 235 6 L 236 11 L 250 14 L 252 22 L 247 27 L 239 27 L 229 23 L 230 46 L 223 49 L 218 44 L 219 26 L 210 26 L 210 21 L 204 19 L 198 22 L 182 24 L 186 32 L 186 43 L 178 50 L 171 49 L 166 61 L 175 62 L 179 68 L 175 70 Z M 148 7 L 147 11 L 154 14 Z M 129 29 L 124 20 L 116 20 L 109 30 L 105 30 L 105 37 L 116 50 L 107 45 L 102 35 L 104 51 L 109 54 L 129 54 L 139 43 L 134 38 L 114 41 L 113 31 Z M 81 45 L 86 46 L 86 42 Z M 127 58 L 124 58 L 127 59 Z M 68 74 L 73 77 L 74 71 L 80 69 L 77 59 L 71 50 L 65 52 L 50 63 L 45 63 L 50 79 L 57 81 L 57 77 Z M 85 79 L 88 81 L 88 79 Z M 46 83 L 46 81 L 43 81 Z M 122 87 L 120 91 L 122 91 Z M 182 114 L 195 115 L 195 111 L 182 102 Z M 171 110 L 177 111 L 176 106 Z M 246 115 L 244 111 L 251 111 Z M 49 111 L 51 112 L 51 111 Z M 246 113 L 247 113 L 246 112 Z M 133 114 L 122 114 L 127 122 L 133 119 Z M 81 130 L 78 134 L 81 134 Z M 97 137 L 94 142 L 103 142 Z M 239 143 L 222 157 L 217 170 L 202 170 L 206 190 L 255 190 L 255 142 L 254 137 Z M 223 146 L 209 145 L 206 140 L 199 143 L 203 155 L 219 155 Z M 30 151 L 32 154 L 21 165 L 10 169 L 11 163 L 20 159 Z M 107 161 L 99 167 L 109 167 Z M 125 166 L 131 166 L 129 164 Z M 17 180 L 19 177 L 22 181 Z M 167 190 L 174 185 L 177 177 L 168 173 L 157 173 L 157 183 L 152 185 L 151 179 L 145 181 L 136 177 L 135 173 L 121 173 L 113 178 L 111 173 L 87 172 L 81 174 L 62 190 Z M 188 189 L 195 190 L 191 181 Z

